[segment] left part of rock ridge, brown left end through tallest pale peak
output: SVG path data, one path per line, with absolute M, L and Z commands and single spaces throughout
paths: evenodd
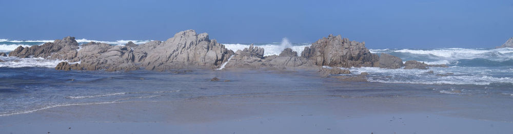
M 164 42 L 150 41 L 141 45 L 128 42 L 125 46 L 89 42 L 80 47 L 74 37 L 66 37 L 42 46 L 30 48 L 20 46 L 9 55 L 20 58 L 43 57 L 80 62 L 68 63 L 73 70 L 117 71 L 144 68 L 162 71 L 182 69 L 187 66 L 213 69 L 233 54 L 215 39 L 210 40 L 207 33 L 197 34 L 194 30 L 176 33 L 174 37 Z M 263 49 L 251 50 L 251 53 L 260 54 L 262 57 Z M 65 63 L 56 69 L 63 70 L 62 65 Z

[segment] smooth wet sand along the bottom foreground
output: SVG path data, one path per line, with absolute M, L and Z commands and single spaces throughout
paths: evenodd
M 2 133 L 511 133 L 450 99 L 275 94 L 63 106 L 0 117 Z M 460 114 L 461 113 L 461 114 Z M 483 113 L 485 114 L 485 113 Z M 497 116 L 497 115 L 495 115 Z M 506 115 L 507 116 L 507 115 Z M 482 118 L 482 117 L 481 117 Z M 509 117 L 511 118 L 511 117 Z M 507 117 L 505 118 L 507 119 Z

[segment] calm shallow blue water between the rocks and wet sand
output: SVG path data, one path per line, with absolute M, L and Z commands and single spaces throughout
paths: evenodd
M 55 71 L 48 68 L 0 70 L 0 116 L 28 114 L 74 105 L 169 102 L 222 96 L 320 96 L 330 98 L 479 98 L 483 108 L 504 108 L 513 101 L 503 84 L 408 84 L 343 82 L 315 71 L 176 70 L 167 72 Z M 220 81 L 210 81 L 216 77 Z M 228 82 L 224 82 L 229 80 Z M 321 98 L 321 99 L 322 99 Z M 473 105 L 458 101 L 455 106 Z M 504 111 L 507 112 L 507 111 Z M 508 115 L 507 113 L 497 115 Z M 494 117 L 493 119 L 499 119 Z M 504 118 L 506 121 L 513 119 Z

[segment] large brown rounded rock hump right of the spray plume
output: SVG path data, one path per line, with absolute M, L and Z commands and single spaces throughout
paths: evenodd
M 349 41 L 347 38 L 329 35 L 319 39 L 312 46 L 305 47 L 301 57 L 312 60 L 315 65 L 338 66 L 379 66 L 379 56 L 365 48 L 365 42 Z

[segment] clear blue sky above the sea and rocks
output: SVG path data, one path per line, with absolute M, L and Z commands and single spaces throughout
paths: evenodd
M 0 38 L 166 40 L 194 29 L 219 42 L 314 42 L 370 49 L 492 48 L 513 37 L 513 1 L 0 1 Z

